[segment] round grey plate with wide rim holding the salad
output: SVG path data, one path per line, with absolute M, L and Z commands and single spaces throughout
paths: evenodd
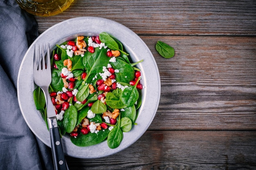
M 124 139 L 120 146 L 110 149 L 106 141 L 89 147 L 78 147 L 72 144 L 69 136 L 63 136 L 63 150 L 65 155 L 77 158 L 99 158 L 112 155 L 137 141 L 150 126 L 158 108 L 160 99 L 160 76 L 155 59 L 137 34 L 126 26 L 105 18 L 79 17 L 60 22 L 43 32 L 31 44 L 25 54 L 18 75 L 18 101 L 22 115 L 34 134 L 50 147 L 49 132 L 45 122 L 34 105 L 33 91 L 33 55 L 34 44 L 49 43 L 50 50 L 56 44 L 67 40 L 73 40 L 78 35 L 93 36 L 101 32 L 107 32 L 121 41 L 133 62 L 144 60 L 137 64 L 141 69 L 142 104 L 139 108 L 137 125 L 130 132 L 124 133 Z M 135 151 L 136 154 L 136 151 Z

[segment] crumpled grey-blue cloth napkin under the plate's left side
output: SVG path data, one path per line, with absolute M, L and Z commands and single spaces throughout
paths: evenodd
M 0 0 L 0 170 L 54 170 L 51 151 L 27 126 L 17 98 L 17 77 L 38 36 L 34 17 L 15 0 Z

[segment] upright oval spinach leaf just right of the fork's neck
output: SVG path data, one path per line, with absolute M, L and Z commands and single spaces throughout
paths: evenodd
M 65 131 L 71 133 L 76 127 L 76 122 L 77 110 L 73 105 L 71 105 L 67 108 L 67 110 L 65 110 L 63 116 L 63 127 L 65 128 Z

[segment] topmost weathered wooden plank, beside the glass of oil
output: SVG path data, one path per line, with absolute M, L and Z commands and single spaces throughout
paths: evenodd
M 36 17 L 39 33 L 81 16 L 115 20 L 139 35 L 256 35 L 254 0 L 77 0 L 50 20 Z

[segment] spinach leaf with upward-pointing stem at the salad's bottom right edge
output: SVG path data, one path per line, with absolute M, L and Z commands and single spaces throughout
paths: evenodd
M 108 133 L 107 144 L 111 149 L 117 148 L 124 138 L 124 134 L 120 128 L 120 115 L 117 125 Z

